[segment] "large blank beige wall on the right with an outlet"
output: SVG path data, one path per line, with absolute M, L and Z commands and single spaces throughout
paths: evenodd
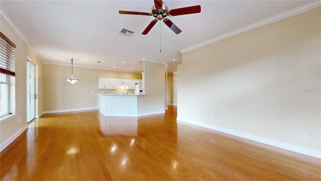
M 178 120 L 320 151 L 320 10 L 184 53 Z

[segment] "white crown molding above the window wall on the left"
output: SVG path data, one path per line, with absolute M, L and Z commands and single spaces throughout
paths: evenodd
M 36 57 L 44 62 L 43 59 L 38 55 L 38 53 L 32 48 L 32 46 L 28 43 L 24 35 L 19 31 L 17 26 L 12 22 L 12 20 L 8 17 L 6 12 L 0 7 L 0 18 L 9 26 L 9 28 L 20 38 L 22 42 L 36 55 Z

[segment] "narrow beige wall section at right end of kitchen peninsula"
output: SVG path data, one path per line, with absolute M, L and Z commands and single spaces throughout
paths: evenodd
M 164 63 L 144 61 L 144 85 L 146 96 L 138 96 L 138 114 L 165 113 L 165 77 L 167 67 Z

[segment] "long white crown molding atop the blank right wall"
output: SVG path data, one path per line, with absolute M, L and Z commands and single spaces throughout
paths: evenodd
M 234 36 L 234 35 L 237 35 L 237 34 L 240 34 L 240 33 L 243 33 L 243 32 L 246 32 L 246 31 L 249 31 L 249 30 L 252 30 L 252 29 L 255 29 L 255 28 L 258 28 L 258 27 L 261 27 L 261 26 L 276 22 L 276 21 L 279 21 L 279 20 L 282 20 L 284 18 L 288 18 L 288 17 L 294 16 L 294 15 L 297 15 L 299 13 L 303 13 L 305 11 L 312 10 L 312 9 L 320 7 L 320 6 L 321 6 L 321 1 L 317 0 L 317 1 L 314 1 L 314 2 L 311 2 L 311 3 L 308 3 L 306 5 L 302 5 L 300 7 L 294 8 L 292 10 L 280 13 L 278 15 L 266 18 L 264 20 L 258 21 L 256 23 L 250 24 L 248 26 L 236 29 L 236 30 L 228 32 L 228 33 L 225 33 L 223 35 L 220 35 L 218 37 L 212 38 L 210 40 L 201 42 L 199 44 L 190 46 L 188 48 L 182 49 L 182 50 L 180 50 L 180 52 L 181 53 L 185 53 L 185 52 L 194 50 L 196 48 L 200 48 L 200 47 L 203 47 L 205 45 L 208 45 L 208 44 L 223 40 L 225 38 L 228 38 L 228 37 L 231 37 L 231 36 Z

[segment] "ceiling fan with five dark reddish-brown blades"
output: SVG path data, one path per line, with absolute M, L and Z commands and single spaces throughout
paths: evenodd
M 131 11 L 119 11 L 119 14 L 128 14 L 128 15 L 146 15 L 153 16 L 156 19 L 152 20 L 146 29 L 141 33 L 142 35 L 147 35 L 150 29 L 157 23 L 158 20 L 163 20 L 163 22 L 171 28 L 176 34 L 182 32 L 170 19 L 166 18 L 167 16 L 179 16 L 179 15 L 187 15 L 194 13 L 201 13 L 201 6 L 192 6 L 185 7 L 179 9 L 169 10 L 167 6 L 163 3 L 162 0 L 154 0 L 155 6 L 151 8 L 151 13 L 143 13 L 143 12 L 131 12 Z

